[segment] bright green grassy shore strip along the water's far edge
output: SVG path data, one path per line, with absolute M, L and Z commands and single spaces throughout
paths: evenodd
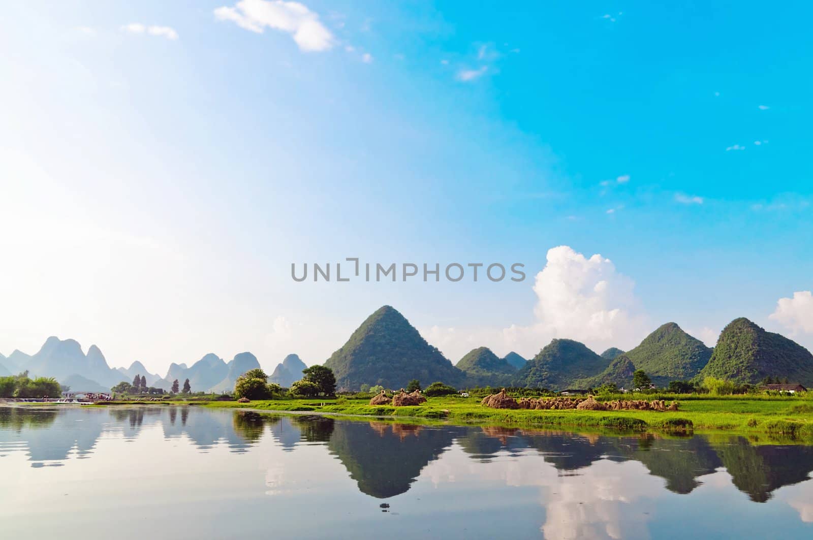
M 319 412 L 337 416 L 446 420 L 453 424 L 603 427 L 624 430 L 767 433 L 813 442 L 813 401 L 801 398 L 698 398 L 683 396 L 677 412 L 550 411 L 490 409 L 478 398 L 430 398 L 418 407 L 370 406 L 367 400 L 279 399 L 251 403 L 211 402 L 206 407 Z

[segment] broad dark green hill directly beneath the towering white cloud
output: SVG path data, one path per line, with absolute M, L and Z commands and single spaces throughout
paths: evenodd
M 564 390 L 601 374 L 610 362 L 572 339 L 554 339 L 517 372 L 519 386 Z

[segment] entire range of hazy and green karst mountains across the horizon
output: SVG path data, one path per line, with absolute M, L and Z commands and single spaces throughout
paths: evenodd
M 663 324 L 630 351 L 612 347 L 601 355 L 572 339 L 554 339 L 533 359 L 515 352 L 499 358 L 488 347 L 478 347 L 453 365 L 441 351 L 421 337 L 404 316 L 390 306 L 376 310 L 350 335 L 345 345 L 324 364 L 333 369 L 340 390 L 361 385 L 384 385 L 397 390 L 412 379 L 423 385 L 442 381 L 455 387 L 517 385 L 565 390 L 596 388 L 607 383 L 632 385 L 633 372 L 644 370 L 655 385 L 670 381 L 699 381 L 713 376 L 737 383 L 758 383 L 765 377 L 813 386 L 813 355 L 778 333 L 770 333 L 750 320 L 733 320 L 720 333 L 714 349 L 690 336 L 675 323 Z M 0 377 L 24 370 L 32 376 L 56 377 L 74 390 L 109 390 L 120 381 L 146 378 L 148 386 L 170 390 L 185 379 L 193 391 L 232 390 L 242 373 L 259 368 L 250 352 L 228 363 L 209 353 L 193 363 L 170 364 L 165 377 L 150 373 L 141 362 L 113 369 L 98 346 L 87 354 L 78 342 L 49 337 L 35 355 L 14 351 L 0 355 Z M 269 381 L 289 387 L 302 378 L 307 365 L 288 355 Z

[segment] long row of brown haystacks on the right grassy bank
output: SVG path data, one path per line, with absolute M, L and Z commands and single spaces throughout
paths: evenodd
M 646 401 L 644 399 L 617 400 L 602 403 L 593 398 L 520 398 L 520 401 L 511 398 L 502 389 L 498 394 L 491 394 L 483 398 L 480 403 L 493 409 L 546 409 L 563 411 L 578 409 L 580 411 L 677 411 L 678 403 L 666 404 L 663 399 Z

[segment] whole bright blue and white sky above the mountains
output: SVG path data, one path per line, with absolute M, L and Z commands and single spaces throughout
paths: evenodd
M 2 9 L 4 355 L 320 364 L 385 304 L 453 362 L 740 316 L 813 348 L 807 2 Z

